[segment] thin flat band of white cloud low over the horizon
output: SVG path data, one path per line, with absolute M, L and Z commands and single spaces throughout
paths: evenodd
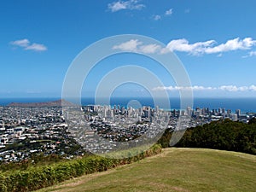
M 192 86 L 192 87 L 183 87 L 183 86 L 164 86 L 164 87 L 155 87 L 153 90 L 223 90 L 229 92 L 236 91 L 256 91 L 256 85 L 252 84 L 250 86 L 236 86 L 236 85 L 222 85 L 219 87 L 204 87 L 204 86 Z

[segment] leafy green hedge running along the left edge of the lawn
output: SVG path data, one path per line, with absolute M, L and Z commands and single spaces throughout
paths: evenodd
M 31 167 L 26 171 L 0 172 L 0 191 L 21 192 L 41 189 L 72 177 L 79 177 L 93 172 L 103 172 L 115 166 L 142 160 L 150 155 L 159 154 L 160 151 L 160 145 L 154 145 L 145 152 L 125 159 L 90 156 L 50 166 Z

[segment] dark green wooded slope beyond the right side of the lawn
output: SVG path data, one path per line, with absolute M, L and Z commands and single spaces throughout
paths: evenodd
M 159 140 L 162 147 L 169 147 L 171 137 L 172 131 L 166 130 Z M 175 147 L 216 148 L 256 154 L 255 119 L 248 124 L 225 119 L 190 128 Z

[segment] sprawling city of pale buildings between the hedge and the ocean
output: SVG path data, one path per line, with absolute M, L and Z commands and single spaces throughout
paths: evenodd
M 247 123 L 255 116 L 224 108 L 87 105 L 79 113 L 74 108 L 0 107 L 0 161 L 26 160 L 32 154 L 108 153 L 127 143 L 156 142 L 167 128 L 183 130 L 219 119 Z

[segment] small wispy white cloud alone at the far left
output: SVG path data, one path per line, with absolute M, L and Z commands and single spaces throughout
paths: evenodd
M 44 44 L 31 44 L 30 41 L 26 38 L 12 41 L 10 44 L 22 47 L 25 50 L 35 50 L 35 51 L 44 51 L 47 50 L 47 47 Z

